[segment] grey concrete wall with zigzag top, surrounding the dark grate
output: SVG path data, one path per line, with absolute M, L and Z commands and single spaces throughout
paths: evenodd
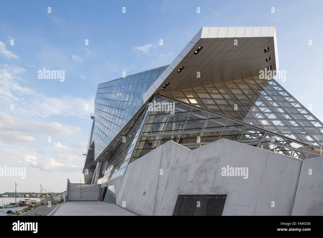
M 248 167 L 248 178 L 222 176 L 227 165 Z M 125 202 L 140 215 L 172 215 L 178 195 L 194 194 L 227 194 L 223 215 L 291 215 L 301 165 L 300 159 L 226 139 L 193 151 L 169 141 L 130 163 L 109 185 L 115 185 L 118 205 Z

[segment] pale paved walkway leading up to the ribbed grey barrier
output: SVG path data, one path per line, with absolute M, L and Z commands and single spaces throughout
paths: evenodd
M 38 214 L 38 212 L 37 212 Z M 58 207 L 54 216 L 136 216 L 116 204 L 101 201 L 65 202 Z

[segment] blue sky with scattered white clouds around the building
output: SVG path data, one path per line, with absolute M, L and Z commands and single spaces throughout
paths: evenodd
M 97 85 L 120 78 L 123 71 L 129 75 L 169 64 L 201 27 L 275 26 L 279 69 L 286 70 L 286 81 L 279 83 L 305 107 L 311 104 L 311 112 L 322 121 L 322 5 L 321 1 L 2 1 L 0 167 L 26 167 L 26 178 L 0 176 L 0 193 L 13 191 L 15 182 L 21 192 L 38 191 L 40 183 L 61 192 L 67 178 L 83 182 L 81 154 L 88 143 Z M 38 79 L 43 68 L 65 70 L 65 81 Z

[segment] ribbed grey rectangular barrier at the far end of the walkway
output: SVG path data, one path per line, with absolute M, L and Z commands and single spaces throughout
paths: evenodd
M 68 184 L 68 201 L 98 201 L 100 184 Z

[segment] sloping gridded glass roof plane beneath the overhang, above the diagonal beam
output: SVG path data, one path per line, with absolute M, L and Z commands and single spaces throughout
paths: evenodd
M 247 78 L 162 94 L 311 145 L 323 124 L 274 79 Z

